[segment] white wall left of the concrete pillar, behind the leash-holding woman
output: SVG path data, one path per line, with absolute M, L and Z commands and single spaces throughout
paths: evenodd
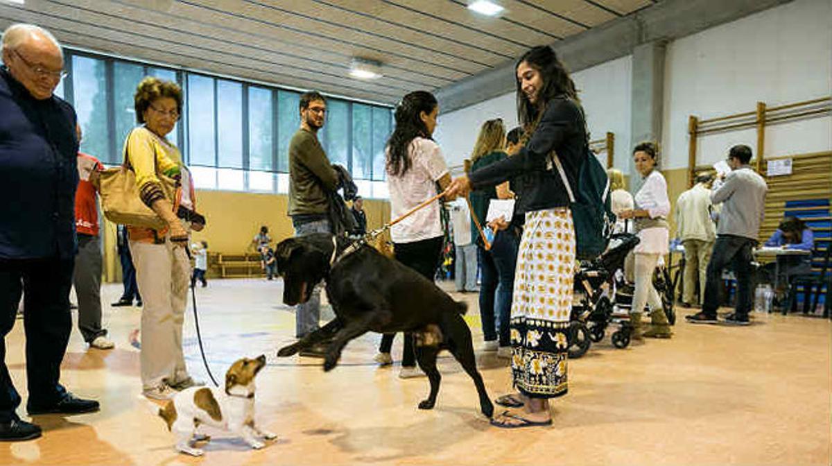
M 592 139 L 602 139 L 607 131 L 615 133 L 617 163 L 626 163 L 630 150 L 631 67 L 632 57 L 627 56 L 572 74 L 587 112 Z M 440 108 L 433 136 L 442 147 L 448 166 L 462 165 L 473 149 L 479 127 L 498 117 L 503 118 L 508 130 L 517 126 L 514 92 L 445 114 Z

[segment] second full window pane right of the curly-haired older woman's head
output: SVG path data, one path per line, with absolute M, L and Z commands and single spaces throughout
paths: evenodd
M 243 167 L 243 85 L 217 81 L 216 123 L 217 166 Z M 240 175 L 242 172 L 240 172 Z M 220 184 L 222 176 L 220 175 Z

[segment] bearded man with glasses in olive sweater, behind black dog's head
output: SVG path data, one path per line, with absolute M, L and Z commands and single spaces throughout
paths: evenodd
M 338 173 L 318 141 L 325 115 L 326 101 L 318 92 L 300 96 L 300 130 L 289 144 L 289 216 L 295 236 L 332 232 L 328 193 L 337 189 Z M 296 307 L 295 336 L 302 338 L 317 330 L 319 320 L 320 285 L 309 301 Z M 324 346 L 315 345 L 300 355 L 324 357 Z

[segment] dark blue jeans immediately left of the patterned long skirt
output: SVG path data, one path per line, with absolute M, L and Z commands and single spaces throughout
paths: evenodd
M 511 345 L 509 322 L 512 315 L 514 269 L 517 265 L 519 247 L 520 238 L 513 229 L 509 229 L 498 231 L 491 250 L 477 248 L 482 271 L 479 315 L 483 322 L 483 337 L 486 341 L 497 340 L 499 328 L 500 346 Z

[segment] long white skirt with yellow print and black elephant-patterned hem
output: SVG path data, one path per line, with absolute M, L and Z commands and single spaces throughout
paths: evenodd
M 512 300 L 514 386 L 532 398 L 567 393 L 575 231 L 567 208 L 526 213 Z

